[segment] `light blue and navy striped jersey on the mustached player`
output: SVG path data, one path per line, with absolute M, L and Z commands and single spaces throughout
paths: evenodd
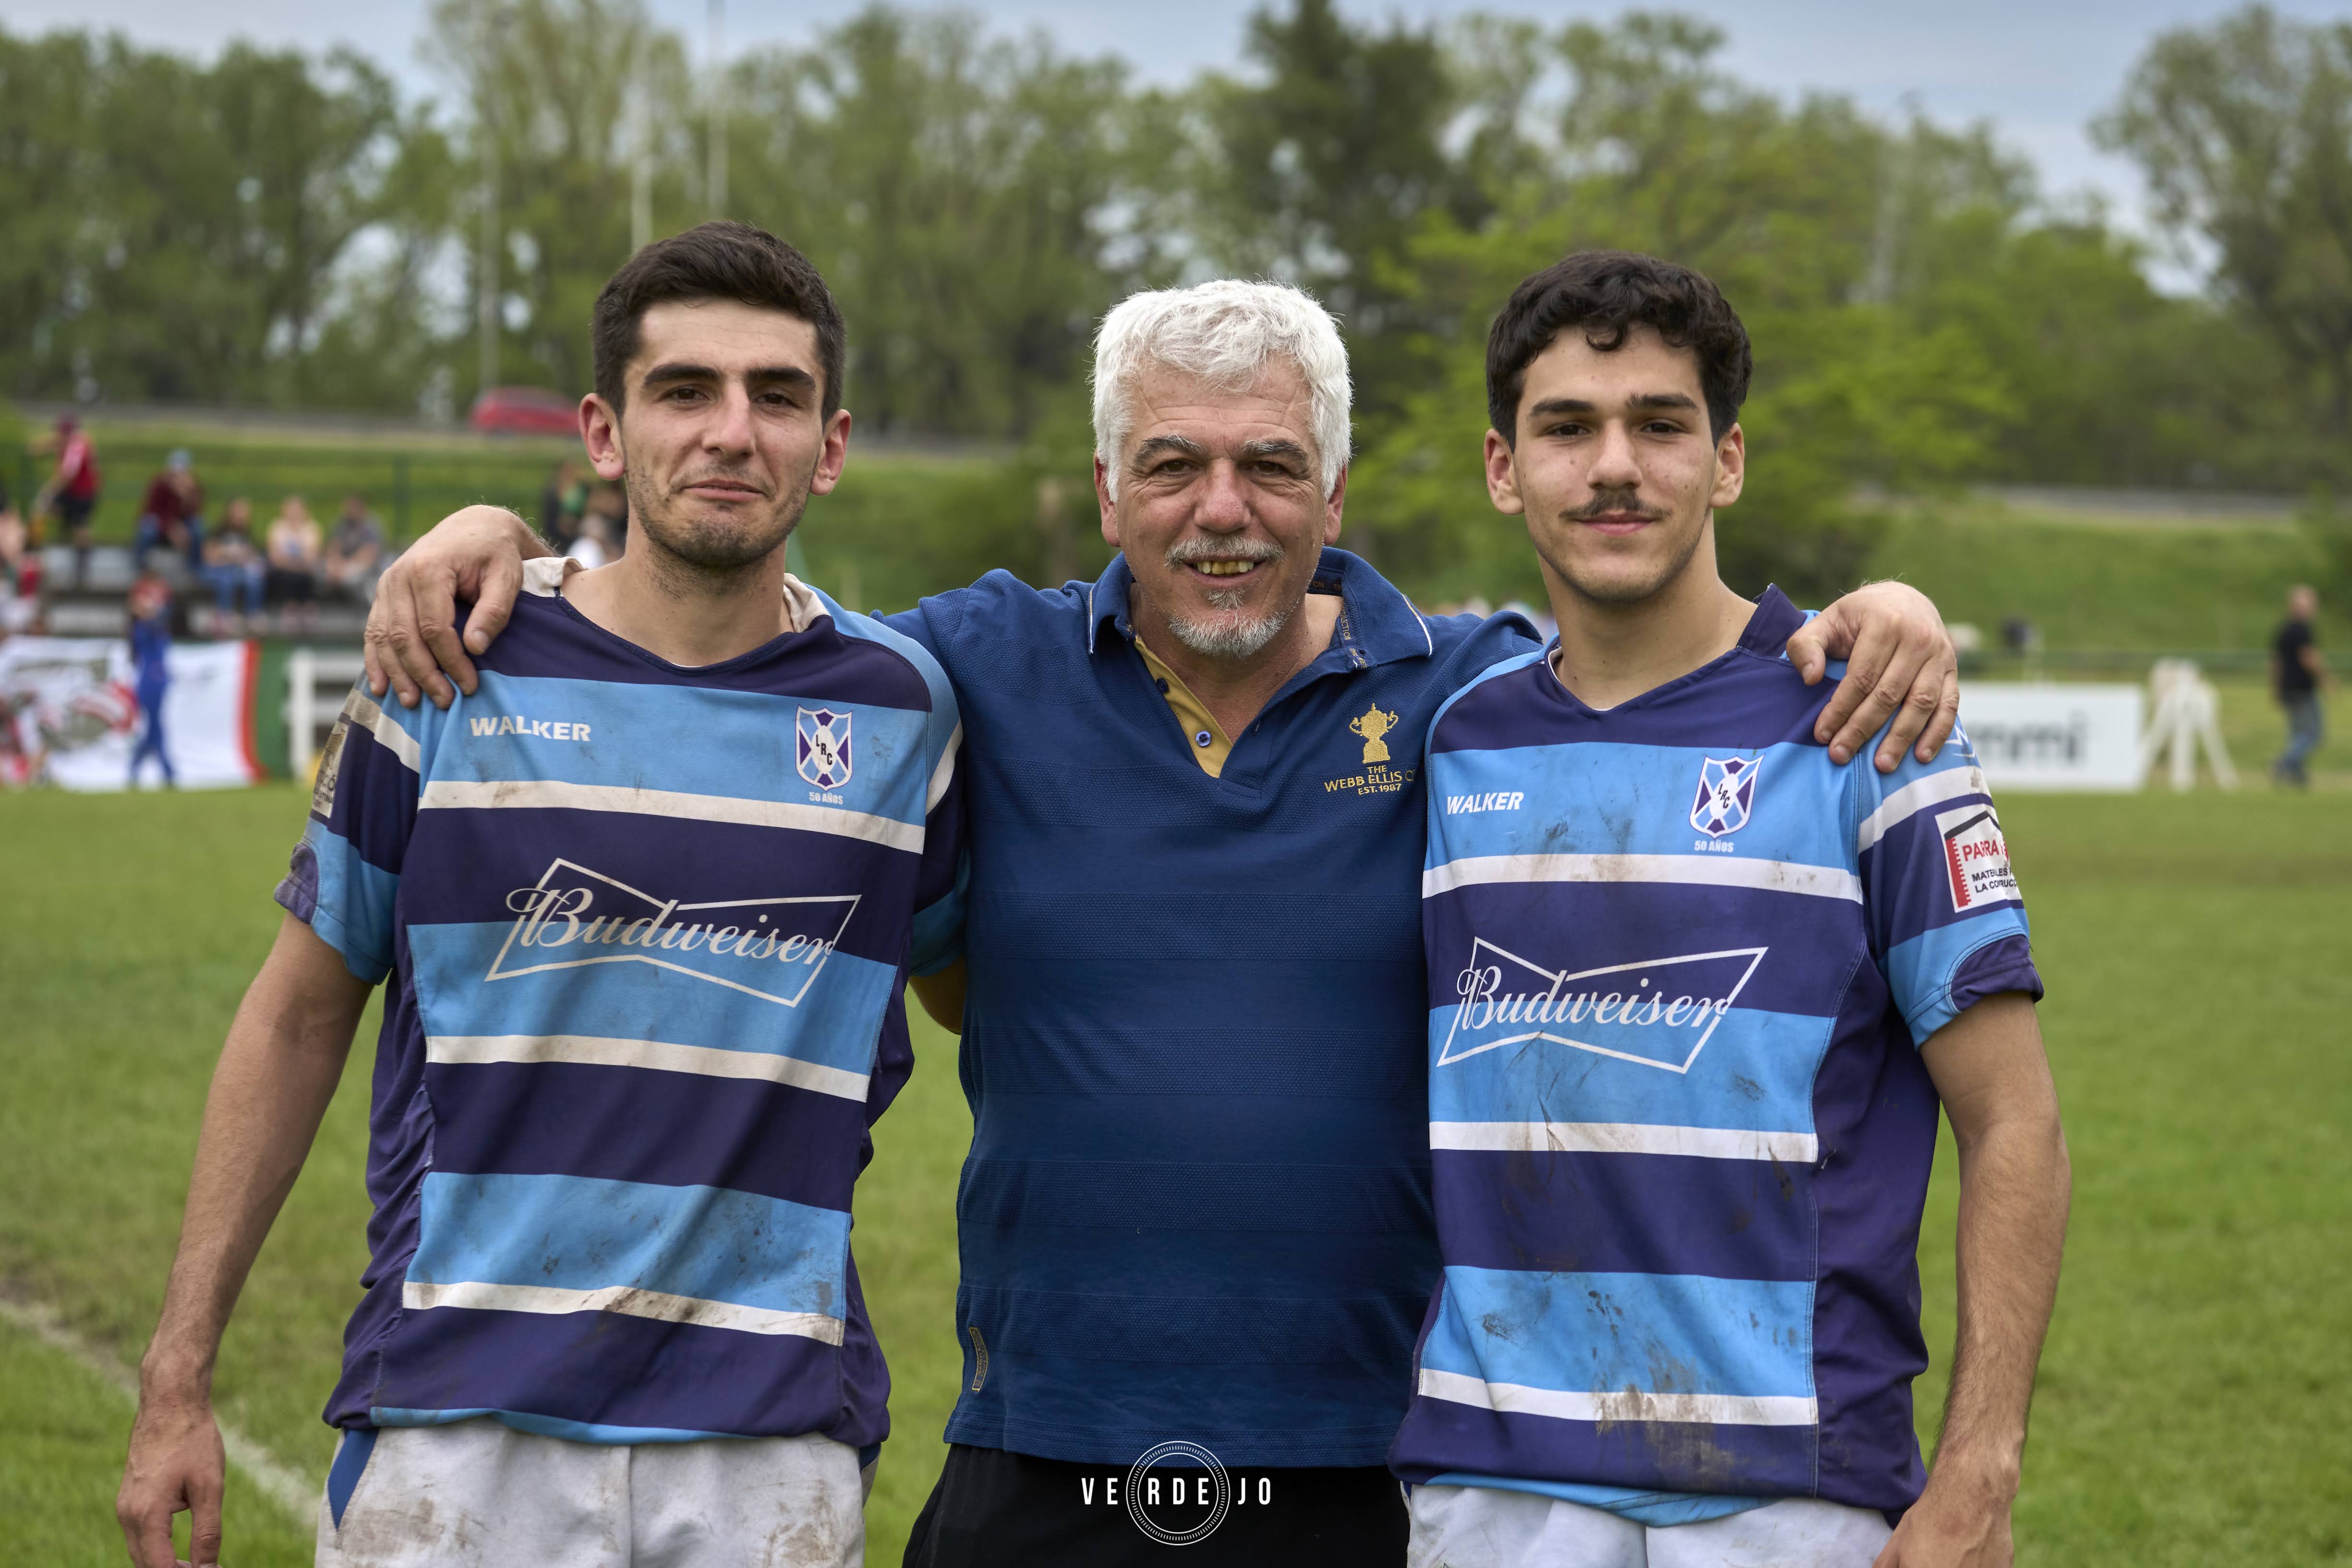
M 1733 651 L 1609 712 L 1526 654 L 1430 726 L 1444 1272 L 1406 1481 L 1649 1523 L 1919 1495 L 1917 1046 L 2042 983 L 1966 738 L 1832 764 L 1799 623 L 1766 590 Z

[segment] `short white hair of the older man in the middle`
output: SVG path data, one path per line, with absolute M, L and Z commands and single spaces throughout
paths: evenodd
M 1094 334 L 1094 456 L 1120 498 L 1120 456 L 1134 428 L 1136 376 L 1167 364 L 1240 393 L 1282 355 L 1308 383 L 1308 421 L 1322 456 L 1324 496 L 1348 468 L 1348 346 L 1312 294 L 1287 282 L 1218 277 L 1190 289 L 1129 294 Z

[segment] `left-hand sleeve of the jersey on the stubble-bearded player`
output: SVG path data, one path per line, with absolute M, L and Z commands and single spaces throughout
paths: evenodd
M 426 703 L 386 710 L 367 686 L 353 689 L 318 757 L 310 820 L 275 893 L 369 985 L 393 969 L 393 900 L 433 715 Z

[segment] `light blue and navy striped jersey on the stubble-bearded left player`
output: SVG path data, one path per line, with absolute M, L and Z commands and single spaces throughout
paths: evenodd
M 849 1197 L 960 924 L 938 663 L 788 585 L 699 670 L 534 571 L 447 712 L 360 689 L 278 900 L 390 978 L 339 1427 L 889 1429 Z

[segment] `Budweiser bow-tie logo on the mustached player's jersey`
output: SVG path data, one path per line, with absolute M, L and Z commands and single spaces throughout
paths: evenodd
M 1461 1001 L 1437 1065 L 1541 1041 L 1689 1072 L 1766 952 L 1684 952 L 1569 973 L 1475 938 L 1454 976 Z

